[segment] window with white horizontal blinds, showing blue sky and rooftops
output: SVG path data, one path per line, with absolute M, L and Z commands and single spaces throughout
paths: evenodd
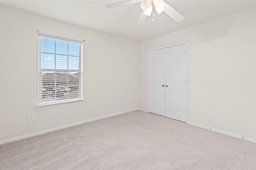
M 82 101 L 80 41 L 39 34 L 39 104 L 59 106 Z

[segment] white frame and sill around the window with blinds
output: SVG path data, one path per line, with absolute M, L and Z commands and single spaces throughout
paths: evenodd
M 81 81 L 81 98 L 79 99 L 74 99 L 74 100 L 60 100 L 60 101 L 55 101 L 55 102 L 49 102 L 49 103 L 41 103 L 40 104 L 40 71 L 42 71 L 41 67 L 41 37 L 44 38 L 50 38 L 54 40 L 60 40 L 60 41 L 67 41 L 67 42 L 72 42 L 72 43 L 79 43 L 79 65 L 78 65 L 78 72 L 80 72 L 81 76 L 78 79 L 78 81 Z M 56 47 L 55 47 L 56 50 Z M 79 69 L 80 68 L 80 69 Z M 47 70 L 47 69 L 46 69 Z M 59 71 L 58 69 L 48 69 L 48 70 L 55 70 Z M 72 70 L 70 70 L 72 71 Z M 42 75 L 41 75 L 42 76 Z M 42 91 L 42 90 L 41 90 Z M 59 107 L 59 106 L 68 106 L 68 105 L 73 105 L 73 104 L 82 104 L 84 102 L 83 100 L 83 42 L 82 41 L 76 41 L 72 39 L 66 39 L 66 38 L 61 38 L 61 37 L 56 37 L 56 36 L 51 36 L 51 35 L 46 35 L 46 34 L 38 34 L 38 104 L 36 105 L 37 109 L 46 109 L 46 108 L 51 108 L 51 107 Z

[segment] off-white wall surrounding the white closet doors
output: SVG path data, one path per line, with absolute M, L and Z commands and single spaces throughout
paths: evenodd
M 183 41 L 189 41 L 188 120 L 256 139 L 255 8 L 140 42 L 139 107 L 147 109 L 147 50 Z

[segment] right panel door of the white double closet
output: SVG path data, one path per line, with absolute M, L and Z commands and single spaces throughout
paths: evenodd
M 186 44 L 165 50 L 165 116 L 186 122 Z

